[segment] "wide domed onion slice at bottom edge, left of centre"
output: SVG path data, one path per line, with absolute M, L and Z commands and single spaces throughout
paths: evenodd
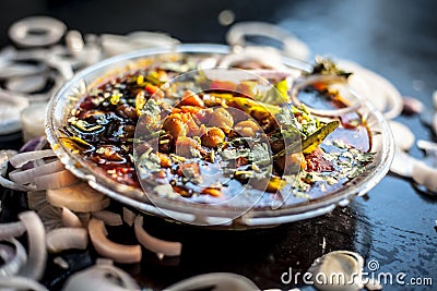
M 122 291 L 140 290 L 140 287 L 126 271 L 108 264 L 99 264 L 72 275 L 62 290 Z

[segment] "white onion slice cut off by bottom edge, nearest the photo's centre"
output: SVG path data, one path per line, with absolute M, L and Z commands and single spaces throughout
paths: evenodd
M 253 291 L 260 290 L 248 278 L 232 272 L 211 272 L 194 276 L 165 288 L 166 291 L 210 290 Z

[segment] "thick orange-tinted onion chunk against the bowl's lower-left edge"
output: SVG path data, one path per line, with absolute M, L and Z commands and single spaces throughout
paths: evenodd
M 98 211 L 109 205 L 109 197 L 80 182 L 70 186 L 47 190 L 47 201 L 57 207 L 76 213 Z

